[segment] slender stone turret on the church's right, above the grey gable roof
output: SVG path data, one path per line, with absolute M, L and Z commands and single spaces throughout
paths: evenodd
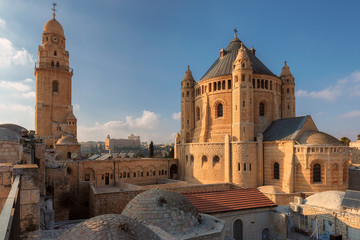
M 290 72 L 286 61 L 282 68 L 280 79 L 282 81 L 281 109 L 282 118 L 295 117 L 295 79 Z

